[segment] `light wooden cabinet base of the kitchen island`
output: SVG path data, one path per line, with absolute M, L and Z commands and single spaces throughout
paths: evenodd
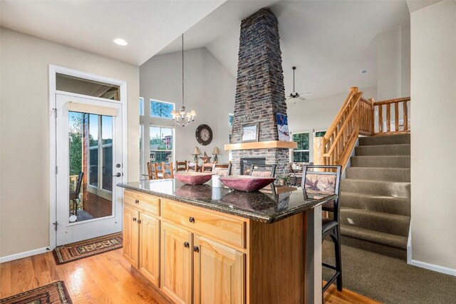
M 269 224 L 125 191 L 123 222 L 125 258 L 174 303 L 306 303 L 309 296 L 304 213 Z

